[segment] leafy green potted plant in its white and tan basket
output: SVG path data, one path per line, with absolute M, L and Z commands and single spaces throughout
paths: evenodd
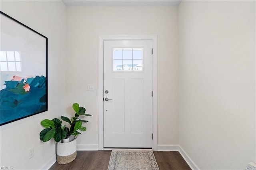
M 86 114 L 86 109 L 79 107 L 78 103 L 74 103 L 72 107 L 75 111 L 74 117 L 71 119 L 64 116 L 60 117 L 63 121 L 69 123 L 70 128 L 66 127 L 66 125 L 62 126 L 62 121 L 57 118 L 52 120 L 44 119 L 41 121 L 41 125 L 45 127 L 45 129 L 40 132 L 40 140 L 47 142 L 51 138 L 54 138 L 57 142 L 56 153 L 57 162 L 59 164 L 67 164 L 76 158 L 76 137 L 78 134 L 81 134 L 78 130 L 86 131 L 86 127 L 82 127 L 82 123 L 88 122 L 78 117 L 81 115 L 91 116 Z M 73 138 L 71 138 L 71 136 L 73 136 Z

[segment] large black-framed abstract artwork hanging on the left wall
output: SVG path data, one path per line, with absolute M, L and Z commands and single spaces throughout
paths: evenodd
M 47 111 L 47 45 L 0 11 L 0 125 Z

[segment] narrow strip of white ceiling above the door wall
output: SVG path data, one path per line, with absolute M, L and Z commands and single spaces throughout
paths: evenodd
M 179 6 L 181 0 L 62 0 L 66 6 Z

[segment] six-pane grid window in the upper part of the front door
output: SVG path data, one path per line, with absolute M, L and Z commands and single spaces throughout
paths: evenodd
M 143 71 L 142 48 L 114 48 L 113 71 Z

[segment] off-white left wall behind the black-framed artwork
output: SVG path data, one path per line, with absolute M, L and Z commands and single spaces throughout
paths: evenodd
M 66 7 L 61 1 L 2 1 L 1 11 L 48 38 L 48 111 L 2 125 L 0 166 L 42 169 L 55 159 L 55 143 L 42 142 L 43 119 L 65 112 Z M 34 146 L 34 157 L 28 150 Z

